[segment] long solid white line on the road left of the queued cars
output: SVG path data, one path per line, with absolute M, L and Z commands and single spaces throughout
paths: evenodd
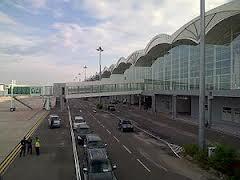
M 73 157 L 74 157 L 74 162 L 75 162 L 76 180 L 81 180 L 79 159 L 78 159 L 78 154 L 77 154 L 75 136 L 74 136 L 73 129 L 72 129 L 72 120 L 71 120 L 71 113 L 70 113 L 69 105 L 68 105 L 68 116 L 69 116 L 69 123 L 70 123 L 70 133 L 71 133 L 71 138 L 72 138 L 72 147 L 73 147 Z

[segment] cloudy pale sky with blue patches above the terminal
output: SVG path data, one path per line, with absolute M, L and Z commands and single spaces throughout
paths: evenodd
M 229 0 L 206 0 L 206 11 Z M 171 35 L 199 15 L 199 0 L 0 0 L 0 83 L 84 79 Z M 80 75 L 79 75 L 80 74 Z

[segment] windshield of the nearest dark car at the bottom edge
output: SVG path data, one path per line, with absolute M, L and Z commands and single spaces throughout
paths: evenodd
M 111 164 L 108 160 L 104 161 L 92 161 L 90 172 L 91 173 L 103 173 L 112 171 Z

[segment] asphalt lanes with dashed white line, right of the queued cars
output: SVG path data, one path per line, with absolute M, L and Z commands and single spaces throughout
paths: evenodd
M 83 116 L 95 133 L 108 144 L 112 163 L 117 165 L 117 179 L 157 180 L 190 179 L 169 169 L 161 162 L 161 154 L 169 156 L 164 144 L 155 142 L 142 132 L 122 133 L 117 129 L 118 119 L 108 113 L 92 111 L 92 107 L 82 100 L 70 100 L 71 115 Z M 81 110 L 81 112 L 80 112 Z M 168 152 L 169 151 L 169 152 Z M 78 146 L 80 165 L 82 147 Z

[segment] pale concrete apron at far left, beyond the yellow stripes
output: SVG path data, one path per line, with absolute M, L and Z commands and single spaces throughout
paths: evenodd
M 0 162 L 20 142 L 36 121 L 45 113 L 40 98 L 25 98 L 33 110 L 16 103 L 16 111 L 10 112 L 10 98 L 0 99 Z

